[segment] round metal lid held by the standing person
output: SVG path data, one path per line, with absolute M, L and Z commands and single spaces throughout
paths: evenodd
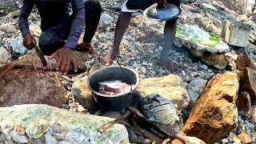
M 162 21 L 177 18 L 181 13 L 182 10 L 171 3 L 166 3 L 164 6 L 158 6 L 155 3 L 144 11 L 144 15 L 147 18 L 160 19 Z

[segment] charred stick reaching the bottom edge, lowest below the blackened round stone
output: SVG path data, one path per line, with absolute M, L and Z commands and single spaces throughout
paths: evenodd
M 134 126 L 131 126 L 132 129 L 134 129 L 135 131 L 137 131 L 137 132 L 138 132 L 139 134 L 141 134 L 143 137 L 149 138 L 149 139 L 155 141 L 157 144 L 158 144 L 158 143 L 162 143 L 162 141 L 163 141 L 162 138 L 159 138 L 157 135 L 152 134 L 152 133 L 150 133 L 149 131 L 140 128 L 140 127 L 134 122 L 134 120 L 132 120 L 132 121 L 133 121 L 133 124 L 134 124 Z

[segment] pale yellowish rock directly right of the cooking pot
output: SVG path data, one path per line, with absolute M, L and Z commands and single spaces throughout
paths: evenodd
M 178 111 L 186 110 L 190 103 L 190 96 L 182 87 L 182 78 L 175 74 L 161 78 L 142 79 L 138 83 L 137 90 L 141 91 L 144 96 L 159 94 L 163 98 L 169 99 Z

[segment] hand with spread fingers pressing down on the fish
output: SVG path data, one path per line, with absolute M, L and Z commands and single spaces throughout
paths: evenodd
M 73 63 L 74 72 L 76 73 L 78 71 L 78 64 L 74 59 L 74 50 L 69 47 L 64 46 L 61 49 L 56 50 L 49 58 L 56 58 L 56 70 L 60 71 L 64 75 L 66 75 L 70 70 L 71 62 Z

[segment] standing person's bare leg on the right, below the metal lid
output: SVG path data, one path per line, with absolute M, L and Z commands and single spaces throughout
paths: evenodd
M 159 59 L 159 63 L 162 66 L 166 66 L 167 70 L 170 70 L 171 73 L 177 69 L 177 66 L 168 58 L 170 54 L 170 49 L 174 45 L 174 38 L 177 29 L 177 18 L 170 21 L 166 21 L 164 37 L 165 37 L 165 46 L 162 48 L 162 53 Z

